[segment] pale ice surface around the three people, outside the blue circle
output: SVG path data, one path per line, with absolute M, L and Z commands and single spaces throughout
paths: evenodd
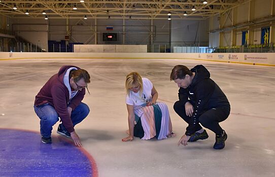
M 169 80 L 169 75 L 177 64 L 189 68 L 204 65 L 226 94 L 231 113 L 221 123 L 228 135 L 223 150 L 213 149 L 215 134 L 210 130 L 207 140 L 177 146 L 187 126 L 173 110 L 178 86 Z M 83 148 L 96 162 L 98 176 L 275 176 L 275 67 L 185 59 L 0 61 L 0 128 L 39 134 L 40 119 L 33 110 L 33 102 L 44 83 L 62 65 L 79 66 L 91 76 L 91 95 L 86 94 L 83 100 L 91 112 L 75 129 Z M 132 71 L 149 78 L 158 91 L 158 101 L 168 105 L 175 138 L 121 141 L 128 129 L 124 82 Z M 57 126 L 52 135 L 60 137 L 56 134 Z M 3 153 L 0 152 L 0 159 Z M 63 156 L 71 154 L 64 152 Z

